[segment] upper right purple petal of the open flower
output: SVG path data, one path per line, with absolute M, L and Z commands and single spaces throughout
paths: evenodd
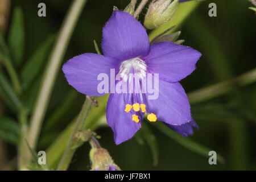
M 159 73 L 165 81 L 177 82 L 196 69 L 201 53 L 191 47 L 171 42 L 153 44 L 150 53 L 143 57 L 152 73 Z

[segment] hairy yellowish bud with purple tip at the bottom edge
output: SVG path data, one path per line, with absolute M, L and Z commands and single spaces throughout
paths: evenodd
M 92 171 L 119 171 L 121 170 L 104 148 L 93 147 L 90 150 L 90 160 L 92 161 Z

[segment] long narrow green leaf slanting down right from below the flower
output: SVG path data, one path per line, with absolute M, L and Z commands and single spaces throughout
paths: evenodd
M 196 143 L 189 138 L 183 137 L 182 135 L 171 130 L 169 127 L 167 127 L 163 123 L 156 122 L 153 125 L 155 127 L 157 127 L 160 131 L 162 131 L 164 134 L 166 134 L 168 137 L 174 139 L 177 143 L 181 144 L 182 146 L 188 148 L 189 150 L 191 150 L 193 152 L 196 152 L 197 154 L 200 154 L 200 155 L 203 155 L 203 156 L 209 158 L 209 151 L 212 151 L 209 148 L 204 147 L 201 144 Z M 225 160 L 221 155 L 217 154 L 217 160 L 220 163 L 225 163 Z

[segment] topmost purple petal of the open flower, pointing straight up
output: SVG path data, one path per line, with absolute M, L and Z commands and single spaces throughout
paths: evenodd
M 101 44 L 105 56 L 119 60 L 146 56 L 150 50 L 147 32 L 129 13 L 114 11 L 103 28 Z

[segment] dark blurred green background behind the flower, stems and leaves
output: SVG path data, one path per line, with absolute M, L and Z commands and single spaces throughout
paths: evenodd
M 46 3 L 45 18 L 39 18 L 37 15 L 37 6 L 40 2 Z M 208 16 L 210 2 L 217 5 L 217 17 Z M 11 1 L 11 13 L 14 7 L 20 6 L 24 14 L 25 60 L 48 36 L 56 35 L 70 3 L 71 1 L 60 0 Z M 79 18 L 63 63 L 81 53 L 95 53 L 93 40 L 100 45 L 102 27 L 111 16 L 113 6 L 123 10 L 128 3 L 128 0 L 89 0 Z M 256 67 L 256 17 L 254 11 L 248 9 L 249 6 L 252 5 L 245 0 L 205 1 L 179 28 L 180 39 L 185 40 L 183 44 L 202 53 L 196 71 L 181 81 L 187 93 L 229 80 Z M 146 14 L 146 10 L 143 14 Z M 40 79 L 40 75 L 38 77 Z M 34 84 L 36 82 L 38 81 Z M 68 85 L 63 72 L 59 71 L 44 121 L 48 121 L 70 92 L 71 104 L 64 113 L 61 113 L 58 121 L 51 123 L 50 126 L 47 126 L 47 122 L 43 123 L 37 151 L 47 149 L 79 113 L 85 99 L 84 95 L 77 93 Z M 151 125 L 150 129 L 155 134 L 159 147 L 157 166 L 153 166 L 151 150 L 146 143 L 139 144 L 133 138 L 116 146 L 110 127 L 100 127 L 96 132 L 102 137 L 99 140 L 101 146 L 108 149 L 115 163 L 123 170 L 256 169 L 255 83 L 236 89 L 225 96 L 193 104 L 191 110 L 199 130 L 195 130 L 194 135 L 189 138 L 224 156 L 225 164 L 209 165 L 208 158 L 181 146 Z M 2 114 L 15 118 L 8 107 L 2 108 Z M 80 147 L 69 169 L 90 169 L 89 149 L 88 143 Z M 6 151 L 8 160 L 16 155 L 15 145 L 6 141 L 0 150 Z

